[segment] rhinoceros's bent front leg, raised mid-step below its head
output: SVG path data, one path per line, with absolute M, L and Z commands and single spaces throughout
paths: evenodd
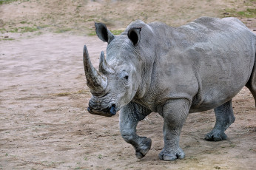
M 127 143 L 132 144 L 135 148 L 135 155 L 141 159 L 149 152 L 151 147 L 151 139 L 140 137 L 136 134 L 138 122 L 146 118 L 151 111 L 144 108 L 138 103 L 129 103 L 124 106 L 120 112 L 120 131 L 121 135 Z

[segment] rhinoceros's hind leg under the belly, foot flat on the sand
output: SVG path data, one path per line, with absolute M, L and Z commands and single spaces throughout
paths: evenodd
M 220 141 L 226 140 L 226 129 L 235 121 L 232 109 L 232 100 L 215 108 L 216 123 L 211 132 L 205 135 L 204 140 Z

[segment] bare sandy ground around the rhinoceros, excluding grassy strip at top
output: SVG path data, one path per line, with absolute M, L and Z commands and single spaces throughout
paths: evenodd
M 152 138 L 141 160 L 121 138 L 118 115 L 90 115 L 82 65 L 87 44 L 97 67 L 107 44 L 97 37 L 44 34 L 0 41 L 0 169 L 254 169 L 256 109 L 249 90 L 234 98 L 228 140 L 203 136 L 215 123 L 212 110 L 190 114 L 181 133 L 184 160 L 158 160 L 164 147 L 162 118 L 152 113 L 138 134 Z

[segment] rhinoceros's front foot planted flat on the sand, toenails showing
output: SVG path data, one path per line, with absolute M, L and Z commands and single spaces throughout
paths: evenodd
M 178 147 L 178 149 L 163 149 L 160 154 L 158 154 L 160 160 L 176 160 L 176 159 L 183 159 L 185 157 L 185 153 L 183 150 Z

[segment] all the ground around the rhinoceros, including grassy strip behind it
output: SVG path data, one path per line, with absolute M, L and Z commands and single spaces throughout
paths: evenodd
M 104 118 L 87 112 L 91 95 L 82 64 L 84 44 L 95 67 L 107 47 L 95 36 L 84 36 L 94 31 L 94 21 L 104 22 L 110 30 L 124 30 L 135 19 L 178 26 L 200 16 L 233 16 L 255 8 L 255 3 L 18 0 L 1 4 L 0 169 L 255 169 L 256 109 L 248 89 L 234 98 L 236 120 L 226 131 L 228 140 L 203 140 L 215 124 L 215 115 L 212 110 L 194 113 L 181 133 L 186 158 L 158 160 L 164 147 L 163 120 L 152 113 L 138 125 L 139 135 L 152 138 L 152 149 L 137 160 L 132 146 L 121 138 L 118 114 Z M 239 18 L 256 30 L 256 18 Z M 30 28 L 28 33 L 23 33 L 25 28 Z

